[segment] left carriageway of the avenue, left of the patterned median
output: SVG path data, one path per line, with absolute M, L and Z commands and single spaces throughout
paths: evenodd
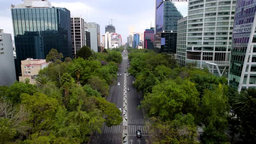
M 125 60 L 123 59 L 121 65 L 118 67 L 118 74 L 121 73 L 121 76 L 118 76 L 117 82 L 110 86 L 109 95 L 107 101 L 114 103 L 117 108 L 121 108 L 123 111 L 123 93 L 124 93 L 124 69 L 125 69 Z M 120 82 L 120 86 L 117 86 L 117 83 Z M 121 144 L 122 143 L 122 132 L 123 124 L 112 127 L 107 127 L 105 124 L 101 129 L 102 133 L 94 132 L 92 134 L 90 144 Z

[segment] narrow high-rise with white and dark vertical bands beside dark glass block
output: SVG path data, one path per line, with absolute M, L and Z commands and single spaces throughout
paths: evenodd
M 71 16 L 71 38 L 72 38 L 72 53 L 75 56 L 76 52 L 85 46 L 85 20 L 79 16 Z

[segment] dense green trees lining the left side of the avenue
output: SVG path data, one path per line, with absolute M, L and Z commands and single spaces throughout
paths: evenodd
M 116 79 L 121 52 L 86 52 L 86 60 L 62 62 L 62 54 L 53 49 L 36 85 L 0 87 L 1 144 L 82 144 L 104 123 L 121 123 L 120 110 L 104 98 Z

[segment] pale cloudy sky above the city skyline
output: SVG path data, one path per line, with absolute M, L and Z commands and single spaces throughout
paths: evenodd
M 144 32 L 144 29 L 154 27 L 155 0 L 49 0 L 54 7 L 65 7 L 73 16 L 82 16 L 86 22 L 95 22 L 100 25 L 101 35 L 105 33 L 105 25 L 109 19 L 113 20 L 116 33 L 122 35 L 126 43 L 128 27 L 133 25 L 135 32 Z M 13 26 L 10 5 L 23 3 L 22 0 L 0 0 L 0 29 L 4 33 L 11 33 Z M 187 2 L 175 2 L 183 16 L 187 16 Z M 87 13 L 88 12 L 88 13 Z

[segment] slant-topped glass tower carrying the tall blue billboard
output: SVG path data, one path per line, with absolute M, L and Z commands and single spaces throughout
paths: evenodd
M 167 0 L 156 0 L 154 49 L 158 52 L 176 53 L 177 21 L 183 18 L 175 4 Z

